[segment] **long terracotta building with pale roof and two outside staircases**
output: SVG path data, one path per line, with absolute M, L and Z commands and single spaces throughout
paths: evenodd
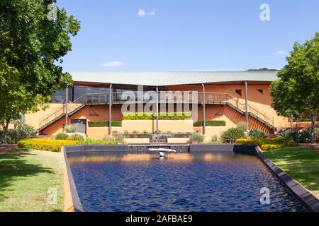
M 288 126 L 272 108 L 269 86 L 276 71 L 267 72 L 83 72 L 71 73 L 74 85 L 52 95 L 45 111 L 26 114 L 40 134 L 54 136 L 66 124 L 103 138 L 114 131 L 175 131 L 218 136 L 245 122 L 248 129 L 273 133 Z M 125 112 L 191 112 L 191 121 L 123 121 Z M 195 121 L 225 121 L 201 126 Z M 121 121 L 122 126 L 94 128 L 90 121 Z M 112 123 L 111 123 L 112 125 Z

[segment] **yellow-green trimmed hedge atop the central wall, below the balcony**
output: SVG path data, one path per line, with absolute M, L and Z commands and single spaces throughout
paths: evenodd
M 159 120 L 187 120 L 191 119 L 191 112 L 159 112 Z M 148 112 L 125 112 L 123 120 L 156 120 L 155 113 Z

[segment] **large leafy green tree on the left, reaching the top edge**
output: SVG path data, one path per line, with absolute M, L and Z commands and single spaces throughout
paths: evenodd
M 56 8 L 52 20 L 52 4 L 55 0 L 0 1 L 0 144 L 6 143 L 11 119 L 37 111 L 55 90 L 72 85 L 61 64 L 79 21 L 64 8 Z

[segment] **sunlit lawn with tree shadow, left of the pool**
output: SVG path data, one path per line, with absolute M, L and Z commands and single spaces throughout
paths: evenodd
M 50 204 L 50 191 L 57 204 Z M 15 148 L 0 154 L 0 211 L 62 211 L 62 154 Z

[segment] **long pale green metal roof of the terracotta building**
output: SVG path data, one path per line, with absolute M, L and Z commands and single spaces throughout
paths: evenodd
M 275 81 L 276 71 L 72 72 L 77 82 L 125 85 L 187 85 L 235 81 Z

